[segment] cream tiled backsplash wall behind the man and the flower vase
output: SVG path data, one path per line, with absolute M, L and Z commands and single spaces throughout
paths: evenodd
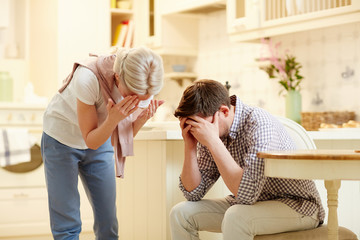
M 198 78 L 224 84 L 229 81 L 230 94 L 273 114 L 284 115 L 284 97 L 279 96 L 281 87 L 254 64 L 254 59 L 264 54 L 263 46 L 230 42 L 225 11 L 203 17 L 199 29 L 198 57 L 170 58 L 165 61 L 168 64 L 165 69 L 174 61 L 188 61 Z M 288 49 L 303 65 L 303 111 L 348 110 L 355 111 L 360 119 L 360 23 L 277 36 L 272 41 L 281 42 L 281 51 Z M 354 74 L 343 78 L 342 73 L 347 69 Z M 186 86 L 171 85 L 177 87 L 177 94 L 162 91 L 162 97 L 171 98 L 174 102 L 169 105 L 175 109 Z M 175 98 L 179 99 L 175 101 Z

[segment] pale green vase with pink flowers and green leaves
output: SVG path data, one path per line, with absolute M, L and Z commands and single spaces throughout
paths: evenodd
M 300 75 L 302 65 L 297 62 L 296 57 L 285 52 L 284 56 L 279 55 L 280 43 L 273 46 L 271 40 L 263 40 L 268 46 L 270 57 L 261 58 L 260 61 L 266 61 L 268 64 L 260 67 L 269 78 L 277 79 L 282 86 L 279 94 L 286 91 L 285 94 L 285 115 L 286 117 L 300 123 L 301 122 L 301 94 L 300 83 L 303 76 Z

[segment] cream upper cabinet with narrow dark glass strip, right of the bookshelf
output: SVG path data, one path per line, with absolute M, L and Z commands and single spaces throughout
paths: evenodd
M 167 1 L 147 0 L 136 11 L 138 45 L 146 45 L 161 55 L 197 56 L 198 17 L 163 15 Z

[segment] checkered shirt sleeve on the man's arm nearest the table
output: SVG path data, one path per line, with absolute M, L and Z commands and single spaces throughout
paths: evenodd
M 238 204 L 254 204 L 264 187 L 266 177 L 264 175 L 264 159 L 256 156 L 257 152 L 275 149 L 279 144 L 277 131 L 269 125 L 253 126 L 246 142 L 249 149 L 244 154 L 244 173 L 238 189 L 236 202 Z

